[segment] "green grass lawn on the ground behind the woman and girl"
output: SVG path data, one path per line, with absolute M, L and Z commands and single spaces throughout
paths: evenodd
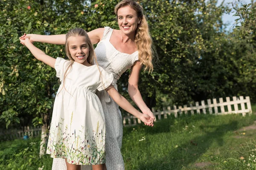
M 256 130 L 238 131 L 252 125 L 256 116 L 195 115 L 169 117 L 146 127 L 125 127 L 122 154 L 126 170 L 243 170 L 255 149 Z M 145 139 L 145 140 L 141 140 Z M 49 155 L 38 158 L 39 138 L 1 142 L 0 169 L 51 170 Z M 29 143 L 37 144 L 30 145 Z M 28 150 L 25 149 L 29 147 Z M 244 160 L 240 157 L 243 156 Z M 251 160 L 252 161 L 252 160 Z M 199 162 L 205 167 L 196 167 Z M 253 165 L 253 161 L 250 163 Z M 255 164 L 256 165 L 256 164 Z M 22 167 L 23 166 L 23 167 Z M 254 168 L 255 169 L 255 168 Z

